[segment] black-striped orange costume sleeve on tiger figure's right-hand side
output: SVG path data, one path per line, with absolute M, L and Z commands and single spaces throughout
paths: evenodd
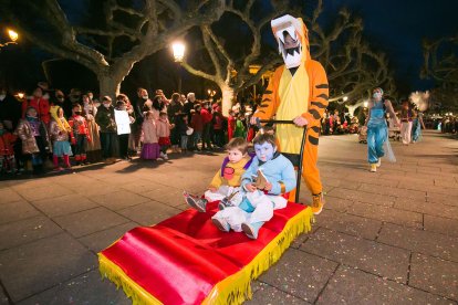
M 312 126 L 320 126 L 320 120 L 329 104 L 330 87 L 326 73 L 319 62 L 310 61 L 306 70 L 309 75 L 311 75 L 311 77 L 309 77 L 311 94 L 309 109 L 306 113 L 303 113 L 302 116 L 309 122 L 310 128 Z

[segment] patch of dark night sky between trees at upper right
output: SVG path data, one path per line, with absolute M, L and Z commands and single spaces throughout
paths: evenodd
M 388 55 L 397 81 L 413 91 L 430 88 L 431 83 L 419 77 L 421 40 L 458 33 L 457 0 L 324 1 L 325 10 L 330 11 L 343 6 L 363 18 L 365 36 Z

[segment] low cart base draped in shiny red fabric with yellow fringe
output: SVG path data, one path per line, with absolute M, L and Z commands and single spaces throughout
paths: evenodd
M 186 210 L 153 227 L 138 227 L 98 253 L 100 271 L 133 304 L 240 304 L 251 281 L 274 264 L 293 240 L 311 230 L 311 208 L 288 202 L 259 231 L 221 232 L 208 212 Z

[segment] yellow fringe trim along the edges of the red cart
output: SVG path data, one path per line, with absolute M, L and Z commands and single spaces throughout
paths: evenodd
M 216 284 L 202 304 L 241 304 L 247 298 L 251 298 L 251 281 L 273 265 L 296 236 L 309 232 L 312 222 L 313 213 L 310 207 L 295 214 L 248 265 Z M 163 304 L 102 253 L 98 253 L 98 264 L 102 277 L 112 281 L 117 288 L 122 286 L 127 297 L 132 298 L 133 305 Z

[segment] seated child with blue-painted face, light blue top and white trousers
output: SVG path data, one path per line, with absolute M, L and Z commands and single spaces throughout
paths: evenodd
M 296 181 L 294 167 L 277 151 L 273 135 L 259 135 L 253 144 L 256 157 L 242 176 L 242 202 L 238 207 L 226 207 L 211 218 L 221 231 L 243 231 L 250 239 L 258 238 L 259 229 L 273 217 L 273 210 L 287 207 L 288 200 L 281 194 L 294 189 Z M 262 189 L 253 178 L 260 172 L 267 180 Z

